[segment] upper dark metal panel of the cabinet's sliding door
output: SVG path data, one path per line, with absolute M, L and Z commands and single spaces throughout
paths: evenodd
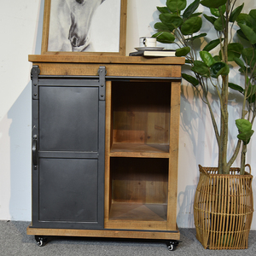
M 40 86 L 39 99 L 39 150 L 98 151 L 98 88 Z

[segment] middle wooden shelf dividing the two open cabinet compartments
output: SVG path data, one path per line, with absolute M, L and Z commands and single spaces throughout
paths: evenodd
M 168 144 L 113 143 L 110 156 L 168 158 Z

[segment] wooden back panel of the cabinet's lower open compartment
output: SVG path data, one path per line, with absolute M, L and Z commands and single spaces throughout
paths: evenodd
M 168 162 L 168 159 L 111 158 L 112 201 L 166 203 Z

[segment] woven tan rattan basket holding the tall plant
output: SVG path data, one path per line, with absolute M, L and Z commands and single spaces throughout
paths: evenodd
M 209 249 L 245 249 L 253 218 L 251 168 L 240 175 L 218 174 L 218 168 L 199 166 L 200 179 L 195 191 L 196 238 Z

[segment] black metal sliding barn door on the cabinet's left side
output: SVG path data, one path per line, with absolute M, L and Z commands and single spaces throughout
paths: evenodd
M 102 229 L 105 77 L 38 73 L 33 67 L 32 227 Z

